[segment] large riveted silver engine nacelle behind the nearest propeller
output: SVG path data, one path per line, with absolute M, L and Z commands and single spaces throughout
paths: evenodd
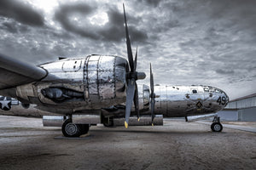
M 17 87 L 16 95 L 21 102 L 77 111 L 125 101 L 127 61 L 123 58 L 89 55 L 61 59 L 41 67 L 49 76 Z

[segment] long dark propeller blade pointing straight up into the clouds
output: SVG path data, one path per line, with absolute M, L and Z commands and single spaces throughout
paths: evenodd
M 133 57 L 132 57 L 132 51 L 131 51 L 131 41 L 130 41 L 128 26 L 127 26 L 127 21 L 126 21 L 125 4 L 124 3 L 123 3 L 123 8 L 124 8 L 124 16 L 125 16 L 125 35 L 126 35 L 128 61 L 129 61 L 131 72 L 133 72 L 134 65 L 133 65 Z

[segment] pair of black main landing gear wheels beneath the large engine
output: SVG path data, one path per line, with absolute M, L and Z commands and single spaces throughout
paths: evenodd
M 71 118 L 68 118 L 62 124 L 62 133 L 66 137 L 79 137 L 89 131 L 89 124 L 74 124 Z

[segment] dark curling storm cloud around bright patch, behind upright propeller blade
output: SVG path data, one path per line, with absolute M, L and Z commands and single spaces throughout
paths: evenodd
M 120 42 L 125 38 L 125 29 L 124 29 L 124 15 L 120 13 L 118 8 L 115 6 L 108 7 L 108 23 L 104 26 L 93 26 L 88 21 L 84 23 L 84 27 L 74 25 L 73 22 L 68 18 L 71 14 L 83 14 L 84 17 L 88 17 L 89 14 L 97 10 L 96 5 L 88 5 L 84 3 L 75 3 L 61 5 L 61 7 L 55 12 L 55 20 L 58 20 L 61 23 L 61 26 L 67 31 L 78 34 L 82 37 L 89 37 L 94 40 L 104 40 L 104 41 L 113 41 Z M 136 20 L 134 17 L 131 17 L 130 14 L 127 14 L 129 19 Z M 143 42 L 148 37 L 145 31 L 137 30 L 135 27 L 129 28 L 131 40 L 136 42 Z

